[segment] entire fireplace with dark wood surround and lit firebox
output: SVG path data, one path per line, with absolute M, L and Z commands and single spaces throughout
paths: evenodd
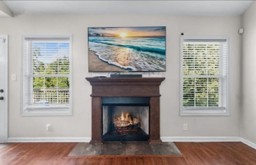
M 162 143 L 159 86 L 164 79 L 86 78 L 92 85 L 90 144 L 116 140 Z

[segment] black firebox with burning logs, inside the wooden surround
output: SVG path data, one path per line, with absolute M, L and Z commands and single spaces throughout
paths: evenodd
M 148 141 L 149 97 L 103 97 L 104 141 Z

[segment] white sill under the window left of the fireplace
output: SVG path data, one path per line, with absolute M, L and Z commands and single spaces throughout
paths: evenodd
M 72 111 L 68 107 L 66 108 L 40 108 L 40 109 L 25 109 L 21 112 L 22 116 L 71 116 Z

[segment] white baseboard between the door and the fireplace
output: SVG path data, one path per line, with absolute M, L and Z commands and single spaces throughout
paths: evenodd
M 90 142 L 90 137 L 9 137 L 8 143 L 18 142 Z

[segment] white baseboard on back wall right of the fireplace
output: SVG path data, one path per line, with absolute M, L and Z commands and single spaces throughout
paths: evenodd
M 176 142 L 210 142 L 210 141 L 241 141 L 240 137 L 222 137 L 222 136 L 192 136 L 192 137 L 161 137 L 162 141 L 176 141 Z

